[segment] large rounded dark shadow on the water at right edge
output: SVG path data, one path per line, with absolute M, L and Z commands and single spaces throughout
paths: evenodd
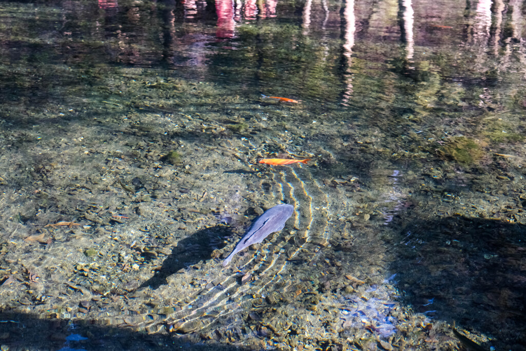
M 524 349 L 525 234 L 519 223 L 461 216 L 409 223 L 391 267 L 403 302 Z

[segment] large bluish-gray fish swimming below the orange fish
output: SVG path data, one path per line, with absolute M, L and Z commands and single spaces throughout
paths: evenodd
M 292 205 L 277 205 L 257 217 L 245 235 L 239 240 L 234 251 L 225 259 L 223 267 L 226 267 L 232 257 L 245 247 L 261 243 L 270 233 L 279 232 L 279 230 L 283 229 L 285 222 L 292 216 L 293 212 L 294 206 Z

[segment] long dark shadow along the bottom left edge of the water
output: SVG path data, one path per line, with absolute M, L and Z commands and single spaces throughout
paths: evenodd
M 73 325 L 64 319 L 0 313 L 0 321 L 3 336 L 0 345 L 2 349 L 8 346 L 10 350 L 248 350 L 228 345 L 205 345 L 175 335 L 145 334 L 126 328 L 94 325 L 89 320 Z

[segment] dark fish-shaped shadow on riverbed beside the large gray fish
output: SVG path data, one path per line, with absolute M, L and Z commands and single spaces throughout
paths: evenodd
M 231 235 L 229 226 L 217 225 L 180 240 L 164 260 L 163 266 L 139 288 L 149 286 L 157 289 L 160 285 L 167 284 L 166 278 L 179 270 L 194 269 L 193 266 L 200 260 L 209 259 L 214 250 L 224 248 L 227 245 L 224 238 Z

